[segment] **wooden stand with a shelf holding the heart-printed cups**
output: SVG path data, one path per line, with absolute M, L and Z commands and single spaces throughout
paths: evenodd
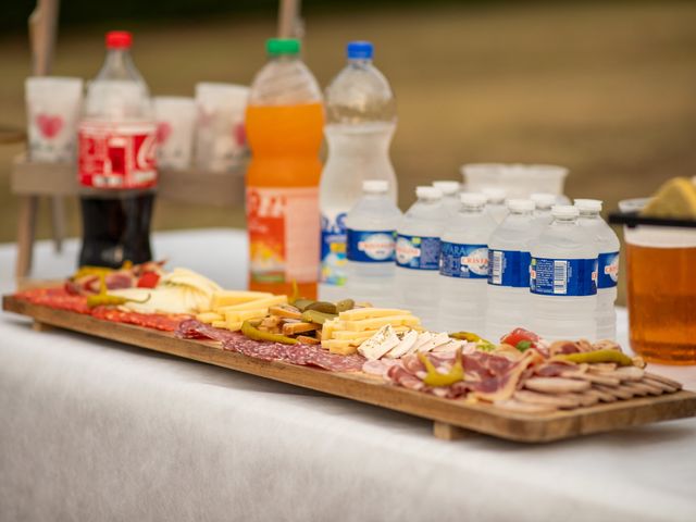
M 245 171 L 245 162 L 240 162 L 237 169 L 227 173 L 196 169 L 160 171 L 158 198 L 181 203 L 237 207 L 244 203 Z M 32 268 L 39 197 L 62 201 L 66 196 L 76 196 L 79 190 L 76 173 L 77 167 L 74 164 L 30 162 L 24 156 L 15 159 L 10 187 L 12 192 L 20 197 L 15 268 L 17 281 L 23 281 Z M 62 217 L 62 211 L 60 213 Z M 52 216 L 52 222 L 57 221 L 60 220 Z M 55 232 L 54 229 L 54 236 Z

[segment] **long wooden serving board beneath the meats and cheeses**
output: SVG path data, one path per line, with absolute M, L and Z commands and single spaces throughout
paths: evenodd
M 696 394 L 684 390 L 570 411 L 515 413 L 391 386 L 365 374 L 262 361 L 224 351 L 212 341 L 179 339 L 171 333 L 32 304 L 13 296 L 3 297 L 2 308 L 33 318 L 39 331 L 50 325 L 80 332 L 428 419 L 434 421 L 434 434 L 439 438 L 459 438 L 474 431 L 509 440 L 547 443 L 696 415 Z

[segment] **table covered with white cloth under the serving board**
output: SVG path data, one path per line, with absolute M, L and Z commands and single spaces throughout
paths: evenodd
M 240 231 L 158 258 L 244 285 Z M 0 246 L 12 290 L 13 246 Z M 36 272 L 74 269 L 77 244 Z M 625 311 L 620 311 L 622 336 Z M 696 520 L 696 419 L 530 446 L 0 315 L 0 520 Z M 696 369 L 657 368 L 696 389 Z

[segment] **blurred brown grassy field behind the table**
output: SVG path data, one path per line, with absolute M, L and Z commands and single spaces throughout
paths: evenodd
M 63 0 L 53 74 L 92 77 L 103 33 L 134 32 L 154 95 L 249 84 L 276 29 L 274 1 Z M 30 1 L 3 7 L 0 125 L 24 127 Z M 567 165 L 567 194 L 609 209 L 696 174 L 695 2 L 304 1 L 304 59 L 325 86 L 350 39 L 370 39 L 398 98 L 391 157 L 401 207 L 467 162 Z M 0 146 L 0 241 L 15 238 L 12 158 Z M 70 234 L 79 234 L 74 201 Z M 156 227 L 243 226 L 241 209 L 160 202 Z M 42 203 L 39 237 L 49 237 Z

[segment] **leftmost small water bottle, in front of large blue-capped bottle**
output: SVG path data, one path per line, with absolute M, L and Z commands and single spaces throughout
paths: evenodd
M 384 179 L 362 182 L 362 198 L 346 216 L 347 258 L 344 294 L 357 302 L 394 307 L 396 228 L 402 214 Z

